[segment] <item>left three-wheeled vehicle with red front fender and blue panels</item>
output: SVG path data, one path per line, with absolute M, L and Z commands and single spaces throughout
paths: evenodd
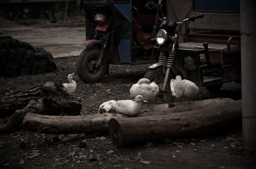
M 154 1 L 84 0 L 86 46 L 77 72 L 86 83 L 99 82 L 110 64 L 152 63 L 152 31 L 157 6 Z M 142 4 L 145 4 L 142 6 Z M 143 11 L 143 12 L 141 12 Z

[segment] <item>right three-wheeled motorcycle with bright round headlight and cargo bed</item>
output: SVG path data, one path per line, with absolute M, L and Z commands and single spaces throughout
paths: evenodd
M 160 4 L 161 0 L 159 7 Z M 204 20 L 205 15 L 209 18 Z M 227 21 L 228 18 L 232 19 Z M 159 93 L 150 100 L 151 103 L 163 104 L 174 100 L 170 80 L 177 75 L 211 92 L 218 91 L 223 83 L 241 82 L 240 31 L 234 31 L 239 27 L 240 14 L 192 11 L 182 22 L 168 21 L 166 17 L 159 19 L 161 24 L 152 39 L 153 48 L 160 52 L 159 61 L 149 66 L 144 76 L 159 86 Z M 194 24 L 191 26 L 193 33 L 188 33 L 190 23 L 194 22 L 199 23 L 198 27 Z M 220 27 L 216 26 L 214 30 L 214 24 L 218 23 Z M 185 34 L 181 33 L 183 25 L 186 25 Z M 178 43 L 182 35 L 188 42 Z

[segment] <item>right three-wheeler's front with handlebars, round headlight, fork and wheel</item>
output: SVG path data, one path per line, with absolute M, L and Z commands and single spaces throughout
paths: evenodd
M 158 11 L 161 11 L 160 4 L 161 0 L 158 2 Z M 180 49 L 178 45 L 178 38 L 181 35 L 180 31 L 184 23 L 187 21 L 195 22 L 196 19 L 203 17 L 204 14 L 190 16 L 182 22 L 168 22 L 166 17 L 158 17 L 161 24 L 158 31 L 155 29 L 155 32 L 153 32 L 153 35 L 155 34 L 155 38 L 151 39 L 151 41 L 153 48 L 156 51 L 160 51 L 159 60 L 158 63 L 150 65 L 149 71 L 144 75 L 144 78 L 148 78 L 150 82 L 154 81 L 159 86 L 159 93 L 155 98 L 150 100 L 151 103 L 164 104 L 173 102 L 174 96 L 172 96 L 170 89 L 170 80 L 175 79 L 177 75 L 181 75 L 182 77 L 187 77 L 187 80 L 193 81 L 193 78 L 196 78 L 200 73 L 200 70 L 198 70 L 199 68 L 194 70 L 192 67 L 195 66 L 194 62 L 197 62 L 197 64 L 200 62 L 200 60 L 198 60 L 200 55 L 207 54 L 207 44 L 205 49 L 197 51 Z M 178 29 L 177 25 L 180 25 Z M 206 56 L 206 58 L 207 57 L 209 56 Z M 184 58 L 184 60 L 182 58 Z M 185 70 L 182 65 L 187 66 L 186 69 L 190 69 L 192 71 Z

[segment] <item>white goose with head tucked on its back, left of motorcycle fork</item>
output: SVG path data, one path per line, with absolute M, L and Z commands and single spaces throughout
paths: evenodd
M 149 81 L 147 78 L 141 78 L 136 84 L 133 84 L 130 88 L 130 94 L 133 98 L 137 95 L 142 95 L 142 97 L 148 101 L 156 96 L 159 91 L 159 87 L 155 82 Z M 147 104 L 148 105 L 148 102 Z

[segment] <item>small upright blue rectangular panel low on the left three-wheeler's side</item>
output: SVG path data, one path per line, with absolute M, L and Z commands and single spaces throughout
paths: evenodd
M 120 41 L 120 61 L 130 63 L 130 40 L 121 39 Z

